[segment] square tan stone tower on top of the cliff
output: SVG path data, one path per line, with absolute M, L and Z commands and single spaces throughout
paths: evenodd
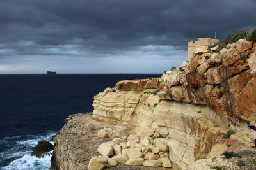
M 193 57 L 196 48 L 217 43 L 218 39 L 198 38 L 197 41 L 188 42 L 188 60 Z

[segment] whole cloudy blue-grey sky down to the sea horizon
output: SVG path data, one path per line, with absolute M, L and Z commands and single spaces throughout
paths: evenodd
M 255 0 L 1 0 L 0 74 L 164 73 L 255 27 Z

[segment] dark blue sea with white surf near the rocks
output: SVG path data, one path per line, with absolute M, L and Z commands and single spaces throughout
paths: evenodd
M 117 81 L 159 76 L 0 74 L 0 169 L 49 169 L 51 156 L 31 157 L 31 147 L 50 141 L 68 115 L 92 112 L 93 96 Z

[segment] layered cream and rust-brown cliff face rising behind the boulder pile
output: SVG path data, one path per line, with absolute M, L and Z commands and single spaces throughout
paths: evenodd
M 255 46 L 245 39 L 219 53 L 205 46 L 161 78 L 120 81 L 94 97 L 93 118 L 166 136 L 170 160 L 182 169 L 225 150 L 251 147 L 246 124 L 238 120 L 254 122 L 256 116 L 256 80 L 250 74 Z M 237 133 L 224 139 L 230 129 Z

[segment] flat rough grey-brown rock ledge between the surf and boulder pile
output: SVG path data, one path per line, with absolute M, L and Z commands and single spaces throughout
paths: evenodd
M 96 131 L 85 132 L 85 124 L 92 124 Z M 113 156 L 111 159 L 115 159 L 120 164 L 114 166 L 115 164 L 109 163 L 113 167 L 109 166 L 108 162 L 111 160 L 108 161 L 108 156 L 101 156 L 100 153 L 97 152 L 97 148 L 99 148 L 102 143 L 111 142 L 110 138 L 99 138 L 97 136 L 97 131 L 104 128 L 116 129 L 116 126 L 93 120 L 92 114 L 70 115 L 65 121 L 64 127 L 60 130 L 60 133 L 56 134 L 56 137 L 54 138 L 55 147 L 52 156 L 51 170 L 84 170 L 102 168 L 116 170 L 136 170 L 138 168 L 150 169 L 150 167 L 142 166 L 144 159 L 135 159 L 135 162 L 131 162 L 133 164 L 141 162 L 140 166 L 133 167 L 125 165 L 125 162 L 129 160 L 125 155 Z M 122 140 L 123 139 L 120 139 L 120 141 Z M 114 138 L 113 141 L 116 141 L 116 138 Z M 139 148 L 134 149 L 140 150 Z M 158 169 L 163 169 L 163 167 L 158 167 Z M 179 169 L 179 167 L 176 166 L 175 170 L 176 169 Z

